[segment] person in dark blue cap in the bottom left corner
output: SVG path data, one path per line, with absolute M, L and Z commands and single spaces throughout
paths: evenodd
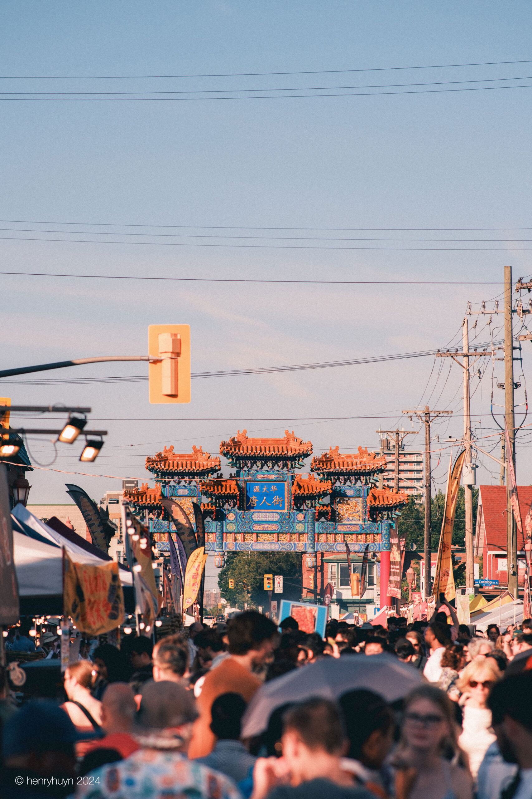
M 0 797 L 61 799 L 73 793 L 74 745 L 85 737 L 49 699 L 22 706 L 2 729 Z

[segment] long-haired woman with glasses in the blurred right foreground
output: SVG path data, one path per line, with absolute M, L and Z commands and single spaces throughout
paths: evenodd
M 471 799 L 471 774 L 456 762 L 454 708 L 447 694 L 431 685 L 406 698 L 402 744 L 392 762 L 396 799 Z

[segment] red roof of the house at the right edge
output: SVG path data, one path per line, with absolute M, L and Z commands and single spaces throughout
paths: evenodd
M 517 491 L 524 526 L 526 514 L 532 504 L 532 486 L 518 486 Z M 482 555 L 483 539 L 486 535 L 488 551 L 506 552 L 506 486 L 479 486 L 477 519 L 475 551 Z M 517 531 L 518 551 L 521 552 L 524 547 L 523 535 Z

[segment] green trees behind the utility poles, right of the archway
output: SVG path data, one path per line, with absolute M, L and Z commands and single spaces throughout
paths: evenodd
M 479 502 L 479 491 L 473 489 L 473 530 L 475 531 L 475 524 L 477 518 L 477 505 Z M 443 505 L 445 503 L 445 495 L 442 491 L 438 491 L 435 497 L 431 500 L 431 547 L 432 551 L 438 549 L 439 535 L 442 528 Z M 408 500 L 408 505 L 401 511 L 399 519 L 400 535 L 404 535 L 404 529 L 407 528 L 406 543 L 407 547 L 411 543 L 416 544 L 416 549 L 424 550 L 424 528 L 425 528 L 425 507 L 422 503 L 416 503 L 413 496 Z M 463 486 L 459 487 L 458 499 L 456 500 L 455 512 L 455 527 L 452 533 L 452 543 L 457 544 L 459 547 L 465 547 L 465 527 L 466 527 L 466 507 L 465 507 L 465 492 Z

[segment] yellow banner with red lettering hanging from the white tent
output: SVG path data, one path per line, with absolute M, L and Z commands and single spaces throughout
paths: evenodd
M 81 632 L 107 633 L 124 623 L 124 594 L 118 563 L 75 563 L 63 547 L 63 613 Z

